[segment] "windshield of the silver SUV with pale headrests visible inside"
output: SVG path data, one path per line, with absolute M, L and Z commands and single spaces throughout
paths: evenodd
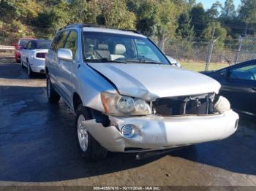
M 169 64 L 150 40 L 140 36 L 84 32 L 83 44 L 84 57 L 88 62 Z

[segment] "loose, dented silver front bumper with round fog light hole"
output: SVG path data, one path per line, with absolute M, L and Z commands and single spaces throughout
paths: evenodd
M 86 120 L 83 127 L 112 152 L 138 152 L 225 139 L 236 132 L 238 119 L 238 114 L 230 110 L 206 116 L 110 117 L 109 127 L 95 120 Z M 127 124 L 136 126 L 135 135 L 129 139 L 119 130 Z

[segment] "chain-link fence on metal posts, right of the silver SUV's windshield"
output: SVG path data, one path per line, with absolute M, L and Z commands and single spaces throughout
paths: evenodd
M 211 43 L 213 48 L 211 50 Z M 181 61 L 228 63 L 229 65 L 256 59 L 256 37 L 241 37 L 225 42 L 193 39 L 191 41 L 170 39 L 165 44 L 165 53 Z

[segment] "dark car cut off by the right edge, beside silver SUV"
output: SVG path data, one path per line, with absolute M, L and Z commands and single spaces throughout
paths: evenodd
M 237 112 L 256 116 L 256 60 L 238 63 L 217 71 L 203 71 L 222 85 L 220 95 Z

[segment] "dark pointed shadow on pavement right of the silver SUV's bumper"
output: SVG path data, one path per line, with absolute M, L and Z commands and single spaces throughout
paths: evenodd
M 170 155 L 234 173 L 256 175 L 255 145 L 256 124 L 253 120 L 242 118 L 233 136 L 179 149 L 171 152 Z

